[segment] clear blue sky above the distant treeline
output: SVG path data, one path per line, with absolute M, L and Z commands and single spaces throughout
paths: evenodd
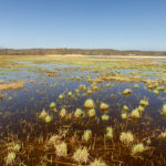
M 166 0 L 0 0 L 0 46 L 166 51 Z

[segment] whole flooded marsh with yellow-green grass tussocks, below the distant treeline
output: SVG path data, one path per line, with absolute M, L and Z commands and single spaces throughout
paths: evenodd
M 166 165 L 166 56 L 1 55 L 0 165 Z

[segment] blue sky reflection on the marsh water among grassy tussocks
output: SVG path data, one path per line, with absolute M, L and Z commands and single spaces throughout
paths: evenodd
M 79 65 L 66 65 L 66 64 L 33 64 L 34 68 L 22 68 L 19 70 L 15 70 L 12 72 L 11 69 L 7 70 L 7 73 L 4 75 L 0 75 L 0 80 L 8 81 L 10 79 L 12 80 L 24 80 L 27 82 L 24 89 L 29 90 L 29 93 L 24 91 L 24 89 L 21 90 L 14 90 L 14 91 L 8 91 L 8 96 L 13 96 L 11 101 L 8 100 L 8 97 L 3 97 L 2 101 L 0 101 L 0 111 L 6 112 L 23 112 L 27 110 L 27 115 L 29 113 L 40 112 L 43 108 L 49 110 L 49 105 L 52 101 L 56 102 L 58 110 L 60 110 L 62 106 L 68 106 L 68 111 L 75 111 L 76 107 L 84 108 L 83 104 L 84 101 L 89 97 L 93 98 L 96 103 L 96 112 L 98 115 L 101 115 L 101 112 L 98 110 L 100 103 L 105 102 L 111 105 L 108 114 L 111 116 L 116 116 L 120 118 L 121 116 L 121 110 L 123 105 L 128 105 L 129 110 L 132 111 L 136 106 L 138 106 L 139 101 L 146 96 L 149 101 L 149 106 L 145 110 L 146 115 L 149 115 L 153 117 L 154 123 L 158 123 L 162 125 L 166 125 L 166 122 L 159 114 L 159 110 L 162 108 L 163 104 L 166 103 L 164 100 L 160 98 L 165 97 L 165 94 L 163 92 L 159 92 L 159 95 L 156 96 L 153 91 L 148 91 L 145 89 L 143 83 L 137 83 L 139 85 L 138 89 L 134 89 L 134 83 L 120 83 L 120 82 L 103 82 L 98 83 L 97 87 L 98 91 L 91 94 L 83 96 L 83 92 L 80 90 L 81 96 L 77 96 L 74 93 L 75 89 L 79 89 L 80 84 L 85 84 L 86 87 L 91 86 L 91 84 L 86 81 L 86 75 L 91 75 L 92 77 L 95 77 L 98 73 L 94 74 L 91 71 L 66 71 L 63 70 L 56 71 L 60 73 L 60 76 L 46 76 L 45 73 L 38 73 L 32 72 L 31 70 L 42 69 L 42 70 L 53 70 L 55 68 L 63 69 L 63 68 L 77 68 Z M 128 72 L 138 72 L 137 70 L 120 70 L 120 72 L 126 74 Z M 153 79 L 155 75 L 153 75 L 153 72 L 151 71 L 141 71 L 142 73 L 148 73 L 151 74 L 151 79 Z M 74 81 L 71 81 L 71 76 L 74 76 Z M 76 81 L 76 76 L 83 76 L 83 80 Z M 65 79 L 65 80 L 64 80 Z M 30 80 L 34 80 L 34 83 L 30 83 Z M 40 83 L 44 82 L 44 85 L 41 85 Z M 111 84 L 111 87 L 106 89 L 106 83 Z M 68 89 L 68 91 L 66 91 Z M 125 89 L 132 89 L 133 94 L 129 96 L 124 96 L 122 92 Z M 66 92 L 65 92 L 66 91 Z M 72 91 L 74 94 L 74 97 L 69 98 L 68 92 Z M 58 97 L 61 93 L 64 93 L 64 100 L 59 101 Z M 6 93 L 6 92 L 3 92 Z M 111 97 L 111 95 L 115 95 L 114 97 Z M 32 100 L 34 98 L 34 101 Z

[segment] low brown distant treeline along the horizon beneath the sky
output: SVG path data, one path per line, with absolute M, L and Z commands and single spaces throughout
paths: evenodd
M 118 51 L 111 49 L 0 49 L 0 55 L 45 55 L 45 54 L 84 54 L 84 55 L 166 55 L 166 51 Z

